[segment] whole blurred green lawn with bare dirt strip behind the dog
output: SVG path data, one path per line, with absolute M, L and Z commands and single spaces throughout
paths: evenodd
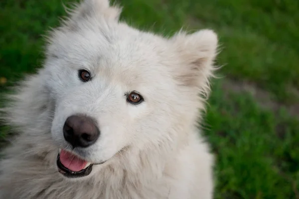
M 40 67 L 42 34 L 69 0 L 0 1 L 0 95 Z M 122 19 L 172 34 L 213 28 L 225 65 L 203 124 L 215 199 L 299 199 L 299 1 L 119 0 Z M 0 127 L 0 142 L 8 137 Z

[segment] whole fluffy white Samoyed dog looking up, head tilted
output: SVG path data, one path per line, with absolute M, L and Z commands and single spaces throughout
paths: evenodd
M 198 119 L 215 67 L 212 30 L 165 38 L 83 0 L 48 37 L 43 67 L 2 118 L 18 132 L 1 199 L 212 199 Z

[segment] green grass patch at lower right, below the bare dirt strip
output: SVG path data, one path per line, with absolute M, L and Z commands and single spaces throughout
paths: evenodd
M 215 85 L 205 134 L 218 155 L 217 199 L 295 199 L 299 122 Z M 298 196 L 297 196 L 298 197 Z

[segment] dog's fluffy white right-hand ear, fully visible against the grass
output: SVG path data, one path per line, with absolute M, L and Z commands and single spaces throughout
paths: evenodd
M 217 54 L 217 35 L 212 30 L 200 30 L 192 34 L 179 32 L 171 39 L 180 63 L 175 76 L 184 86 L 205 90 L 212 75 L 213 61 Z

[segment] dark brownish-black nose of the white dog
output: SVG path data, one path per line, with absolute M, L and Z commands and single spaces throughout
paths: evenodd
M 63 126 L 63 136 L 74 148 L 88 147 L 99 138 L 100 130 L 94 120 L 83 115 L 68 117 Z

